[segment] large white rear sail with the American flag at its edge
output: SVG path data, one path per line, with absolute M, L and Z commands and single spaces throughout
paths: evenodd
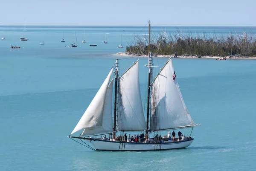
M 194 125 L 189 115 L 180 88 L 174 79 L 171 58 L 152 83 L 151 88 L 151 130 L 164 130 Z

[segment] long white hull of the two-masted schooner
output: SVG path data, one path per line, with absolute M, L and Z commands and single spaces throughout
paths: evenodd
M 151 151 L 151 150 L 169 150 L 176 148 L 186 148 L 193 142 L 191 140 L 181 140 L 179 142 L 162 142 L 162 143 L 144 143 L 144 142 L 113 142 L 102 139 L 89 138 L 85 139 L 90 142 L 95 150 L 102 151 Z

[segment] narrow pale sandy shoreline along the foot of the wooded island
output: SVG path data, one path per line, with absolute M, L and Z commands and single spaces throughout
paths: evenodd
M 133 57 L 148 57 L 148 55 L 137 55 L 127 52 L 118 52 L 115 55 L 119 56 L 133 56 Z M 153 57 L 157 58 L 170 58 L 174 57 L 174 55 L 153 55 Z M 198 58 L 198 56 L 195 55 L 180 55 L 174 58 Z M 215 60 L 226 60 L 226 59 L 256 59 L 256 57 L 248 56 L 248 57 L 240 57 L 240 56 L 201 56 L 199 58 L 205 58 L 205 59 L 215 59 Z

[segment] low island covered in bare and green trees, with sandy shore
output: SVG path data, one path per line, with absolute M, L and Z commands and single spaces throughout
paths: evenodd
M 232 58 L 256 59 L 255 35 L 244 32 L 242 35 L 182 35 L 180 32 L 171 35 L 152 35 L 150 51 L 155 57 L 174 58 L 216 58 L 226 60 Z M 139 36 L 134 38 L 124 53 L 119 55 L 148 55 L 148 41 Z

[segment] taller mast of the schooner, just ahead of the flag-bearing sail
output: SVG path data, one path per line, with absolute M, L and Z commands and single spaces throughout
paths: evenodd
M 150 84 L 151 84 L 151 52 L 150 52 L 150 20 L 148 21 L 148 99 L 147 99 L 147 130 L 146 130 L 146 139 L 148 139 L 148 131 L 149 131 L 149 105 L 150 105 Z

